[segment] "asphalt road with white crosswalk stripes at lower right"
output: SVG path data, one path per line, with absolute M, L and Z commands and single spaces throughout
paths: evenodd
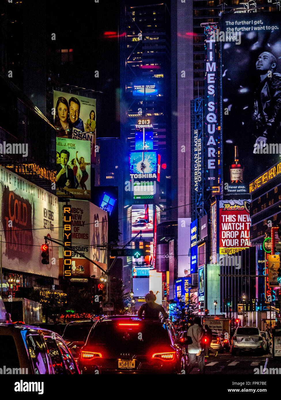
M 249 352 L 238 356 L 218 353 L 216 357 L 211 354 L 205 358 L 205 374 L 257 374 L 255 368 L 259 368 L 259 374 L 262 374 L 265 367 L 281 370 L 281 360 L 273 359 L 270 354 L 258 356 Z M 197 364 L 190 374 L 199 374 Z

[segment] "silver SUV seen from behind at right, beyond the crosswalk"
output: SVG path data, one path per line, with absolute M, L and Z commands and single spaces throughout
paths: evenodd
M 255 351 L 258 354 L 264 352 L 265 339 L 257 327 L 239 326 L 231 338 L 231 354 L 237 351 Z

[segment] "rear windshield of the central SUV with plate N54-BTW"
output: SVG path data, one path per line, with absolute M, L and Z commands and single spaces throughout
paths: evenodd
M 91 334 L 89 344 L 102 344 L 109 347 L 142 346 L 170 344 L 168 330 L 162 325 L 144 324 L 137 328 L 120 327 L 117 324 L 97 325 Z

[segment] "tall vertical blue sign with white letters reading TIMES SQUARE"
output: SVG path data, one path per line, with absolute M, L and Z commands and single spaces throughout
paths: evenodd
M 218 130 L 218 54 L 215 34 L 217 26 L 204 27 L 205 97 L 204 97 L 204 158 L 205 186 L 220 185 L 220 138 Z M 215 188 L 214 188 L 215 189 Z

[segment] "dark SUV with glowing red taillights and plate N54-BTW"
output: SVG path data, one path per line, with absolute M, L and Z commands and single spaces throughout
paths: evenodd
M 82 374 L 181 374 L 188 356 L 172 322 L 133 315 L 105 316 L 79 354 Z

